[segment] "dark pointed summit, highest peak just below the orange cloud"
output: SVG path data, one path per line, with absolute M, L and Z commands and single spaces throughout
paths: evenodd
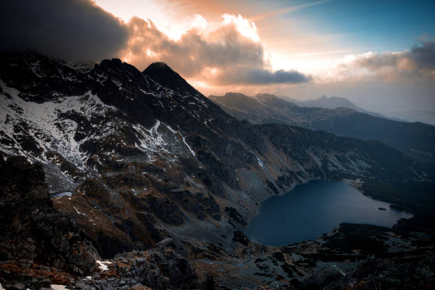
M 163 87 L 168 87 L 171 90 L 188 91 L 190 93 L 197 92 L 194 87 L 189 85 L 181 75 L 178 75 L 178 73 L 172 70 L 166 63 L 151 63 L 143 73 L 151 77 L 154 81 L 159 82 Z

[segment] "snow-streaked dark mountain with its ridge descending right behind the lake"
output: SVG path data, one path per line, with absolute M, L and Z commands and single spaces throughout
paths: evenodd
M 226 114 L 163 63 L 1 55 L 1 151 L 43 164 L 53 204 L 103 257 L 168 236 L 234 250 L 259 203 L 314 178 L 419 181 L 380 142 Z

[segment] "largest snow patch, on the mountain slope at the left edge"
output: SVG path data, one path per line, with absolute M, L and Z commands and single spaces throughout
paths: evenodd
M 48 162 L 43 154 L 30 154 L 23 149 L 19 139 L 28 139 L 30 136 L 40 151 L 56 151 L 84 170 L 87 156 L 80 151 L 80 144 L 90 136 L 76 141 L 77 122 L 62 116 L 74 113 L 92 120 L 116 108 L 104 104 L 91 92 L 82 96 L 60 96 L 55 102 L 27 102 L 19 97 L 18 90 L 7 87 L 1 80 L 0 85 L 3 90 L 0 94 L 3 99 L 0 104 L 1 135 L 11 140 L 9 144 L 1 142 L 1 150 L 8 154 Z

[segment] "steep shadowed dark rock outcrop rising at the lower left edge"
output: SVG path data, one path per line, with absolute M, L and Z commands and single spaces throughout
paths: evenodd
M 80 228 L 53 208 L 43 167 L 24 157 L 0 156 L 0 260 L 33 263 L 86 275 L 95 268 Z M 27 265 L 27 266 L 26 266 Z M 4 279 L 22 279 L 2 272 Z

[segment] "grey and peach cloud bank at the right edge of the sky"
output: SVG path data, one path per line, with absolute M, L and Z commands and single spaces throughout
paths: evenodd
M 435 43 L 424 42 L 400 52 L 348 55 L 324 80 L 433 82 Z

